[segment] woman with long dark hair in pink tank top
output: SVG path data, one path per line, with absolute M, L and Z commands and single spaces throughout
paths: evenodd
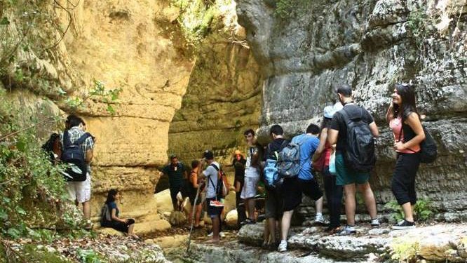
M 425 133 L 415 104 L 415 88 L 407 83 L 395 84 L 391 98 L 386 121 L 393 130 L 393 148 L 397 152 L 391 189 L 404 212 L 404 220 L 393 229 L 413 229 L 412 209 L 417 203 L 415 177 L 420 164 L 420 143 L 425 140 Z

